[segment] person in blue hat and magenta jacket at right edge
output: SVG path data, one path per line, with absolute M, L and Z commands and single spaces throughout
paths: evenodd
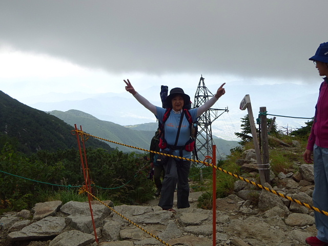
M 320 44 L 309 60 L 313 60 L 319 75 L 323 76 L 323 82 L 303 159 L 306 163 L 314 162 L 313 206 L 328 212 L 328 42 Z M 328 245 L 328 216 L 315 211 L 314 218 L 317 236 L 306 238 L 306 243 L 312 246 Z

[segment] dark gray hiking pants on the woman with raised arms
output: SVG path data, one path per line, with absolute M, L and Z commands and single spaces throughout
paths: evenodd
M 162 209 L 171 209 L 173 207 L 173 197 L 175 187 L 177 189 L 177 208 L 189 208 L 189 183 L 188 175 L 190 170 L 190 161 L 176 160 L 169 157 L 165 165 L 165 178 L 162 181 L 161 195 L 158 206 Z

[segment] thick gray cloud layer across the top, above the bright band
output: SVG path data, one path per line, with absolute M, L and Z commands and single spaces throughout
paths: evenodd
M 306 81 L 328 41 L 326 0 L 13 1 L 0 44 L 109 72 L 234 74 Z

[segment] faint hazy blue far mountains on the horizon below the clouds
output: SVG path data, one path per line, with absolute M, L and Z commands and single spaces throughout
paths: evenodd
M 218 85 L 207 88 L 214 92 Z M 191 85 L 193 87 L 193 85 Z M 185 90 L 185 88 L 183 88 Z M 300 128 L 307 119 L 292 117 L 313 117 L 314 106 L 318 97 L 318 85 L 297 85 L 293 83 L 275 85 L 252 85 L 252 81 L 232 81 L 226 84 L 227 93 L 213 106 L 222 109 L 229 106 L 229 113 L 224 113 L 212 122 L 212 132 L 227 140 L 239 139 L 234 135 L 240 132 L 240 119 L 247 111 L 239 109 L 241 99 L 250 94 L 254 117 L 257 117 L 259 107 L 267 107 L 268 114 L 279 115 L 276 123 L 278 128 L 289 126 Z M 160 106 L 160 88 L 156 85 L 150 88 L 140 88 L 138 92 L 145 96 L 152 104 Z M 191 98 L 196 88 L 186 88 Z M 293 93 L 291 93 L 293 92 Z M 192 101 L 194 99 L 191 99 Z M 139 105 L 130 93 L 49 93 L 37 97 L 26 95 L 26 103 L 43 111 L 59 110 L 66 112 L 70 109 L 80 110 L 101 120 L 114 122 L 121 126 L 156 122 L 155 116 L 145 107 Z M 273 117 L 273 116 L 269 116 Z M 141 129 L 140 129 L 141 130 Z

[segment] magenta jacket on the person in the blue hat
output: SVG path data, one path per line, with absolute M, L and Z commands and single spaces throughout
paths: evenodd
M 326 77 L 320 86 L 316 113 L 306 149 L 313 151 L 314 144 L 328 148 L 328 79 Z

